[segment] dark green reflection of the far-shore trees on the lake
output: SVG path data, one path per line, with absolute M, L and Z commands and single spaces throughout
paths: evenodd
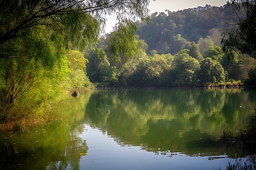
M 226 128 L 240 133 L 254 114 L 253 96 L 255 91 L 238 88 L 136 90 L 121 100 L 118 94 L 100 91 L 90 97 L 84 120 L 108 131 L 119 145 L 235 158 L 245 156 L 240 146 L 227 148 L 220 137 Z M 97 113 L 98 101 L 108 103 L 107 114 Z

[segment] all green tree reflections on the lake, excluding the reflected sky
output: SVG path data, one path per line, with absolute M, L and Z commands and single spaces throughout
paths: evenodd
M 241 142 L 236 141 L 255 114 L 255 90 L 141 89 L 122 99 L 109 90 L 80 94 L 52 111 L 66 116 L 63 121 L 38 126 L 30 133 L 3 133 L 0 169 L 81 168 L 79 154 L 90 148 L 89 137 L 80 135 L 85 125 L 114 138 L 120 146 L 139 146 L 159 156 L 208 156 L 209 161 L 246 157 L 255 163 L 250 156 L 255 145 L 241 143 L 241 137 Z M 243 133 L 247 141 L 251 132 Z

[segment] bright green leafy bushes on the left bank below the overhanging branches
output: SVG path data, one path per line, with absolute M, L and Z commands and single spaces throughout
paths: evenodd
M 81 17 L 82 15 L 85 14 L 81 14 Z M 61 18 L 63 17 L 65 16 L 61 16 Z M 56 18 L 53 17 L 53 20 Z M 65 24 L 68 24 L 65 22 L 67 22 L 67 18 L 65 20 L 60 19 L 58 27 L 56 25 L 54 27 L 55 31 L 45 31 L 46 26 L 40 26 L 40 24 L 35 28 L 24 28 L 18 32 L 18 37 L 1 44 L 0 70 L 2 70 L 1 76 L 5 81 L 5 87 L 1 88 L 1 120 L 5 120 L 9 114 L 9 109 L 14 107 L 14 104 L 17 106 L 24 104 L 24 107 L 27 106 L 29 110 L 39 107 L 46 101 L 52 101 L 54 98 L 59 99 L 64 90 L 67 90 L 66 87 L 71 87 L 65 82 L 68 79 L 69 71 L 68 60 L 64 53 L 70 42 L 75 41 L 76 38 L 79 39 L 76 39 L 77 41 L 81 39 L 79 37 L 68 39 L 71 36 L 70 32 L 72 32 L 68 26 L 65 29 L 67 32 L 60 31 Z M 1 38 L 4 37 L 5 35 Z M 71 62 L 73 62 L 72 59 Z M 79 66 L 73 66 L 72 71 L 76 69 L 79 69 Z M 76 77 L 71 77 L 72 81 L 74 78 Z M 77 86 L 76 83 L 74 87 Z M 34 90 L 35 88 L 37 91 Z M 30 97 L 34 97 L 34 100 L 31 101 Z M 18 112 L 15 113 L 13 109 L 12 113 Z M 35 110 L 32 113 L 35 113 Z

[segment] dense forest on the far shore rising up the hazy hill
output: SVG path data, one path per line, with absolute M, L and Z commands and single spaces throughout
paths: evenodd
M 235 15 L 228 5 L 155 12 L 148 21 L 136 23 L 133 39 L 130 35 L 123 40 L 128 31 L 112 32 L 86 50 L 86 73 L 91 82 L 105 87 L 117 87 L 118 82 L 130 86 L 134 78 L 141 79 L 140 87 L 253 85 L 253 56 L 237 52 L 230 59 L 222 50 L 221 33 L 235 18 L 245 17 Z M 112 39 L 119 44 L 113 45 Z

